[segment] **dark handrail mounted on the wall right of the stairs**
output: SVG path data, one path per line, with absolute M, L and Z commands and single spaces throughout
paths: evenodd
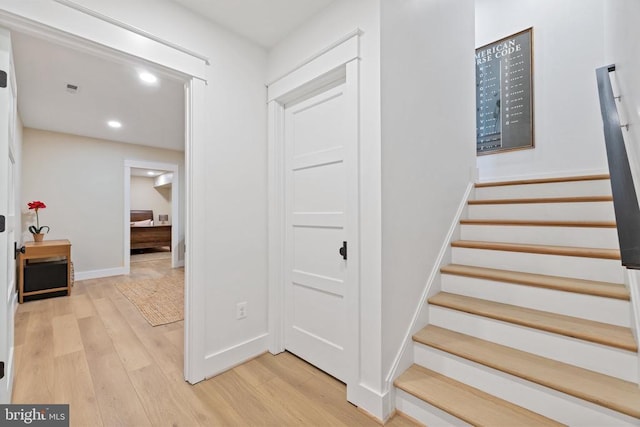
M 627 268 L 640 269 L 640 208 L 609 77 L 609 73 L 615 69 L 615 65 L 609 65 L 596 70 L 600 110 L 604 125 L 604 140 L 607 147 L 622 265 Z

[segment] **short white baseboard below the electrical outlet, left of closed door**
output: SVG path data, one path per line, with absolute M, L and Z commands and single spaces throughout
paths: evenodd
M 205 379 L 214 377 L 267 352 L 269 334 L 258 335 L 204 359 Z

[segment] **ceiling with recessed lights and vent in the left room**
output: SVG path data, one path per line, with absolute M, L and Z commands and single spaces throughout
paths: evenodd
M 156 70 L 157 85 L 144 85 L 138 77 L 142 66 L 20 33 L 12 40 L 24 126 L 184 150 L 182 82 Z M 77 93 L 68 92 L 67 84 L 77 85 Z M 109 128 L 108 120 L 122 127 Z

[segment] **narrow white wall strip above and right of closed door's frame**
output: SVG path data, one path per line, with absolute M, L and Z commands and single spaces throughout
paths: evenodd
M 360 36 L 360 384 L 348 398 L 382 416 L 380 400 L 380 15 L 379 1 L 332 3 L 269 52 L 267 81 L 282 77 L 312 55 L 356 29 Z

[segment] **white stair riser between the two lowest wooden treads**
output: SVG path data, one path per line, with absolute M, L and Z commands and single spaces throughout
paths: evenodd
M 420 344 L 418 365 L 571 426 L 640 426 L 640 420 Z

